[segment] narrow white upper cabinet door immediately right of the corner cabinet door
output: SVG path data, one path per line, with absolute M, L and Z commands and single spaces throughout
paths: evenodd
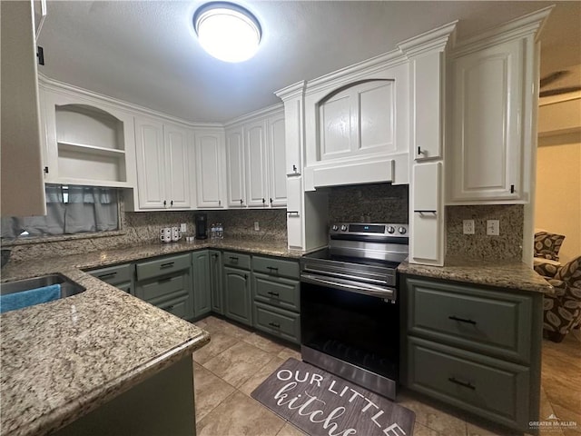
M 228 206 L 244 206 L 244 129 L 241 126 L 226 130 L 226 173 Z

